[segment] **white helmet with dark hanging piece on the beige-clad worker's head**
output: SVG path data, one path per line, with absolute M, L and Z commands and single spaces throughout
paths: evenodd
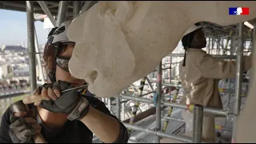
M 194 32 L 196 30 L 199 30 L 199 29 L 202 29 L 203 26 L 196 26 L 196 25 L 193 25 L 191 26 L 188 30 L 186 30 L 186 33 L 183 34 L 183 37 L 182 37 L 182 46 L 184 46 L 184 49 L 185 49 L 185 54 L 184 54 L 184 60 L 183 60 L 183 64 L 182 66 L 185 66 L 185 63 L 186 63 L 186 49 L 188 47 L 190 47 L 190 44 L 194 38 Z

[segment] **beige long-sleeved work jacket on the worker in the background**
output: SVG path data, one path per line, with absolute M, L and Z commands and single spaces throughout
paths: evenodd
M 249 70 L 252 58 L 243 58 L 242 70 Z M 236 63 L 214 58 L 202 49 L 187 49 L 186 65 L 179 65 L 179 77 L 184 89 L 182 104 L 222 109 L 222 100 L 218 93 L 218 81 L 222 78 L 235 78 Z M 214 116 L 204 114 L 205 116 Z

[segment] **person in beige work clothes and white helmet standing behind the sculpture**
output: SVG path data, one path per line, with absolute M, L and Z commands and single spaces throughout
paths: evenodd
M 214 58 L 202 48 L 206 47 L 206 38 L 202 26 L 191 26 L 182 38 L 186 50 L 183 61 L 179 65 L 180 80 L 184 89 L 181 102 L 186 105 L 200 104 L 202 106 L 222 109 L 222 99 L 218 93 L 218 81 L 222 78 L 235 78 L 236 63 L 221 58 Z M 252 66 L 252 55 L 244 58 L 243 70 Z M 186 122 L 186 134 L 193 130 L 193 114 L 182 111 Z M 202 122 L 202 141 L 214 142 L 215 123 L 218 115 L 204 113 Z

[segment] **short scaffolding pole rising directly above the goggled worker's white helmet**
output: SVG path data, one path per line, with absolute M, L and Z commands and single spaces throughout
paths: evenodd
M 60 26 L 62 22 L 66 21 L 66 13 L 67 13 L 68 6 L 69 6 L 69 1 L 59 2 L 56 26 Z

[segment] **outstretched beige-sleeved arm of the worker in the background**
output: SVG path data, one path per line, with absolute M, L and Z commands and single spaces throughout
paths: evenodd
M 198 69 L 203 78 L 235 78 L 236 62 L 224 61 L 221 58 L 214 58 L 210 54 L 198 58 Z M 252 67 L 252 55 L 243 58 L 242 70 L 246 71 Z

